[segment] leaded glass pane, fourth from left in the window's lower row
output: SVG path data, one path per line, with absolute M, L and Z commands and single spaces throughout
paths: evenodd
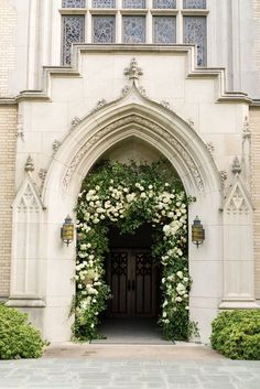
M 176 18 L 153 17 L 153 42 L 161 44 L 176 42 Z

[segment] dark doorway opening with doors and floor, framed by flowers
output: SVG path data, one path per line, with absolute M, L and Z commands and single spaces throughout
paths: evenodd
M 161 344 L 161 267 L 151 256 L 152 227 L 143 225 L 133 235 L 112 227 L 109 242 L 106 278 L 112 299 L 101 320 L 104 342 Z

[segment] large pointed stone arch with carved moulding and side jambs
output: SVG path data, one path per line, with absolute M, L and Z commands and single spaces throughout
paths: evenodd
M 51 341 L 71 337 L 67 317 L 74 294 L 75 242 L 68 248 L 63 245 L 61 225 L 67 214 L 74 216 L 82 182 L 91 166 L 109 148 L 130 137 L 152 145 L 172 163 L 186 193 L 196 197 L 188 210 L 189 225 L 199 215 L 207 236 L 214 240 L 214 245 L 210 238 L 206 240 L 203 250 L 197 250 L 189 240 L 188 249 L 193 278 L 191 316 L 199 323 L 202 339 L 206 342 L 210 334 L 210 320 L 216 316 L 223 296 L 223 253 L 216 249 L 223 247 L 219 174 L 194 129 L 169 108 L 144 97 L 133 85 L 120 99 L 77 120 L 55 153 L 44 182 L 42 198 L 47 210 L 43 262 L 48 274 L 44 287 L 47 301 L 44 334 Z M 202 273 L 213 282 L 202 282 Z M 203 296 L 207 296 L 206 323 Z M 54 329 L 53 316 L 66 323 L 58 332 Z

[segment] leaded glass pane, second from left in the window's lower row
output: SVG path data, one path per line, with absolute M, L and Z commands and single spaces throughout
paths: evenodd
M 115 31 L 115 17 L 93 17 L 93 43 L 113 43 Z

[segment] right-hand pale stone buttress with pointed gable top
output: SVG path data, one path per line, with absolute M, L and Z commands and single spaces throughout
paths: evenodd
M 258 307 L 253 288 L 252 204 L 236 174 L 223 207 L 224 298 L 221 309 Z

